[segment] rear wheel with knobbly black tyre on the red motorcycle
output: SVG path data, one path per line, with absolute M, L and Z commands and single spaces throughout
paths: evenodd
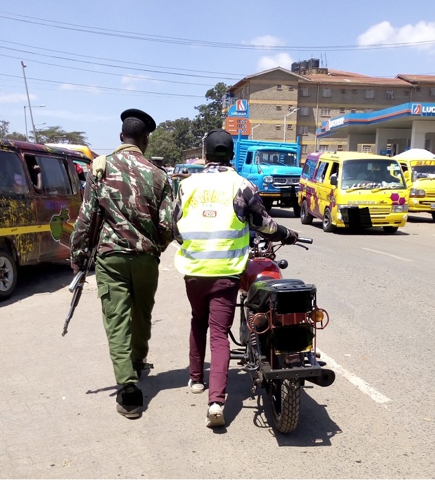
M 267 387 L 274 427 L 280 433 L 293 432 L 299 422 L 300 381 L 270 380 Z

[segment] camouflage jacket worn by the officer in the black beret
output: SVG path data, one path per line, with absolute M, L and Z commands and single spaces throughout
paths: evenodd
M 80 268 L 89 245 L 92 208 L 104 222 L 98 254 L 147 252 L 159 257 L 172 241 L 172 188 L 168 175 L 144 158 L 137 146 L 122 144 L 108 155 L 98 181 L 89 171 L 82 206 L 71 234 L 71 267 Z

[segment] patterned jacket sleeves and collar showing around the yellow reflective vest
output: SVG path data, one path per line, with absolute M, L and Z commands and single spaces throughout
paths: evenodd
M 219 182 L 219 172 L 234 170 L 232 166 L 209 163 L 203 171 L 194 173 L 194 175 L 217 175 L 216 182 Z M 258 194 L 258 188 L 241 177 L 241 188 L 234 197 L 233 206 L 237 218 L 243 223 L 249 223 L 251 230 L 256 230 L 260 234 L 275 234 L 278 230 L 278 224 L 266 212 L 263 201 Z M 181 197 L 183 197 L 183 181 L 179 184 L 177 199 L 174 208 L 174 236 L 178 243 L 183 243 L 181 235 L 177 228 L 177 222 L 181 219 L 183 212 L 181 210 Z M 272 235 L 273 237 L 273 235 Z

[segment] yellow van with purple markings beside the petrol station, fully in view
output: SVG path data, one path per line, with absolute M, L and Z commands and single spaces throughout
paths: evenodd
M 300 177 L 300 220 L 322 220 L 323 230 L 382 227 L 397 232 L 408 219 L 410 193 L 399 162 L 361 152 L 317 152 Z

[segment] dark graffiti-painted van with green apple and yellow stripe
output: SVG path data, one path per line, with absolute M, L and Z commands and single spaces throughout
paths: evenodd
M 21 266 L 69 259 L 82 203 L 74 162 L 90 160 L 80 152 L 0 139 L 0 300 L 14 291 Z

